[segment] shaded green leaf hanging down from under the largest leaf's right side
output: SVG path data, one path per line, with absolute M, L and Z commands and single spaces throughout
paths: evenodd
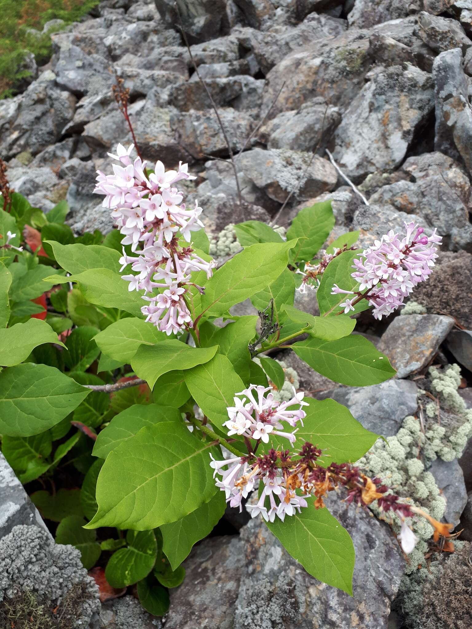
M 225 513 L 225 508 L 225 496 L 218 491 L 208 503 L 202 504 L 181 520 L 160 526 L 164 553 L 172 569 L 175 570 L 189 555 L 194 543 L 211 533 L 213 526 Z

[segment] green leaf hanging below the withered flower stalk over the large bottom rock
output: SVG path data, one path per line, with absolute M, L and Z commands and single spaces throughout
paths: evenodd
M 352 596 L 356 553 L 351 536 L 327 508 L 315 509 L 312 503 L 308 499 L 301 513 L 267 526 L 308 574 Z

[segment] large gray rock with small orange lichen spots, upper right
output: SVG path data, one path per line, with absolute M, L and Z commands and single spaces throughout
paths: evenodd
M 334 133 L 334 159 L 348 177 L 400 165 L 434 107 L 432 88 L 430 75 L 412 65 L 373 75 Z

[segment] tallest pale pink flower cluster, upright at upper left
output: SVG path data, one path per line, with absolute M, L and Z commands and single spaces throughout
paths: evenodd
M 191 232 L 203 227 L 198 203 L 187 209 L 175 187 L 182 179 L 195 179 L 188 174 L 187 164 L 180 162 L 178 170 L 166 171 L 158 161 L 148 177 L 146 162 L 139 157 L 131 161 L 132 150 L 133 145 L 126 149 L 118 144 L 116 155 L 108 153 L 120 165 L 113 165 L 113 175 L 98 171 L 94 192 L 104 195 L 103 207 L 112 210 L 111 217 L 124 237 L 121 244 L 131 245 L 135 253 L 126 255 L 123 247 L 120 259 L 121 271 L 128 265 L 133 271 L 122 276 L 129 282 L 128 289 L 145 291 L 143 299 L 149 304 L 141 311 L 146 321 L 171 335 L 193 323 L 184 298 L 191 272 L 205 270 L 211 277 L 215 263 L 206 262 L 191 247 L 179 247 L 175 238 L 179 231 L 190 242 Z M 164 291 L 152 294 L 154 289 Z

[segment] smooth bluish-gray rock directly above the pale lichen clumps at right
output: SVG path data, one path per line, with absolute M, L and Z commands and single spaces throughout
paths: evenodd
M 396 435 L 402 421 L 417 411 L 418 389 L 410 380 L 388 380 L 369 387 L 338 387 L 323 399 L 344 404 L 367 430 L 382 437 Z

